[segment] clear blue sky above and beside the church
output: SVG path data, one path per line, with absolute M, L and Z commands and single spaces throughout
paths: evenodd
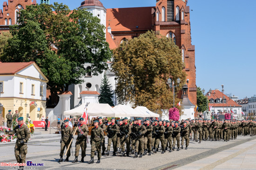
M 6 0 L 0 0 L 0 4 Z M 37 0 L 39 3 L 40 0 Z M 70 9 L 82 0 L 50 0 Z M 155 6 L 155 0 L 101 0 L 105 8 Z M 195 45 L 196 85 L 221 89 L 239 98 L 256 94 L 256 0 L 189 0 Z

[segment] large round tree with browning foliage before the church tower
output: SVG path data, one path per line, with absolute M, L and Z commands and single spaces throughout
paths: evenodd
M 120 44 L 114 50 L 112 68 L 117 76 L 116 94 L 119 103 L 129 102 L 153 111 L 173 107 L 173 91 L 167 80 L 171 77 L 185 83 L 181 50 L 171 39 L 148 31 L 138 38 Z M 175 106 L 180 99 L 175 98 Z M 181 109 L 181 107 L 178 107 Z

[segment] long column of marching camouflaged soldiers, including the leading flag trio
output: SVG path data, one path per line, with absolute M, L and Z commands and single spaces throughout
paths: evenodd
M 83 118 L 80 118 L 80 128 L 76 131 L 78 137 L 75 145 L 75 159 L 73 163 L 78 162 L 79 150 L 82 150 L 81 162 L 84 162 L 86 140 L 88 135 L 88 128 L 83 125 Z M 71 131 L 68 122 L 61 131 L 61 159 L 62 161 L 63 151 L 65 146 L 68 145 L 70 139 L 73 138 L 74 132 Z M 229 140 L 235 140 L 237 135 L 256 135 L 256 121 L 253 120 L 141 120 L 137 118 L 135 120 L 129 120 L 124 118 L 122 120 L 111 119 L 110 124 L 106 125 L 102 122 L 102 118 L 94 121 L 94 128 L 91 132 L 91 160 L 89 164 L 94 163 L 94 155 L 98 155 L 97 164 L 100 163 L 101 155 L 105 155 L 105 138 L 104 132 L 107 132 L 108 147 L 106 156 L 109 156 L 110 146 L 113 144 L 113 156 L 117 153 L 121 154 L 121 157 L 129 157 L 130 154 L 134 154 L 134 158 L 143 157 L 151 152 L 157 153 L 161 151 L 164 154 L 166 151 L 172 152 L 177 146 L 177 150 L 180 148 L 185 150 L 189 147 L 189 141 L 198 142 L 199 144 L 206 140 L 220 141 L 223 139 L 225 142 Z M 181 144 L 180 144 L 181 141 Z M 126 146 L 126 147 L 125 147 Z M 181 146 L 181 147 L 180 147 Z M 184 147 L 183 147 L 184 146 Z M 102 153 L 101 153 L 102 148 Z M 118 148 L 120 150 L 118 151 Z M 70 149 L 70 148 L 69 148 Z M 70 150 L 67 152 L 68 161 L 70 156 Z

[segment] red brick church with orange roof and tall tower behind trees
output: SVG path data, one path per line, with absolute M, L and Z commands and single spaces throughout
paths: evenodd
M 49 0 L 40 0 L 49 3 Z M 0 32 L 8 31 L 9 26 L 17 23 L 18 12 L 27 5 L 36 4 L 36 0 L 8 0 L 0 9 Z M 80 7 L 99 6 L 99 0 L 84 0 Z M 105 8 L 104 8 L 105 9 Z M 110 49 L 116 48 L 122 41 L 138 37 L 148 30 L 154 30 L 172 38 L 182 50 L 184 70 L 187 73 L 189 100 L 196 105 L 195 83 L 195 45 L 191 44 L 190 13 L 187 0 L 156 0 L 155 6 L 111 8 L 106 11 L 106 39 Z M 180 93 L 181 96 L 181 93 Z

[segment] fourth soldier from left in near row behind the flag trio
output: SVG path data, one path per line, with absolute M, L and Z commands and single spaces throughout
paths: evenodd
M 148 148 L 148 155 L 151 155 L 151 149 L 152 149 L 152 131 L 153 131 L 153 126 L 150 125 L 150 121 L 147 119 L 146 120 L 146 133 L 144 134 L 144 155 L 147 155 L 147 148 Z

